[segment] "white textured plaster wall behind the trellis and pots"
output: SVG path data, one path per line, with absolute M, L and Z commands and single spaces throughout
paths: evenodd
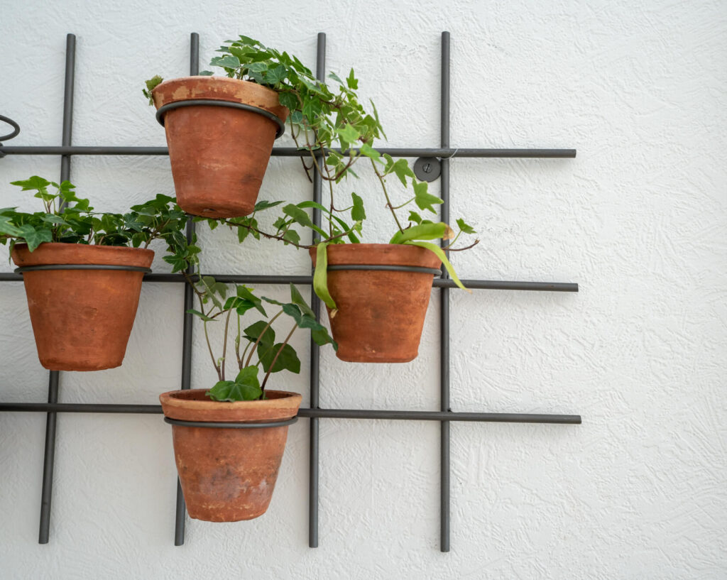
M 583 416 L 581 426 L 454 424 L 452 551 L 441 554 L 436 423 L 321 422 L 318 549 L 308 548 L 305 420 L 289 432 L 268 514 L 191 521 L 177 548 L 161 417 L 63 414 L 51 541 L 40 546 L 45 417 L 2 413 L 2 578 L 727 577 L 724 1 L 0 4 L 0 113 L 23 128 L 8 145 L 60 143 L 65 33 L 78 35 L 73 142 L 164 145 L 140 89 L 188 71 L 191 31 L 203 63 L 245 33 L 310 65 L 325 31 L 329 69 L 356 68 L 390 146 L 436 146 L 439 35 L 451 31 L 454 146 L 578 150 L 451 162 L 453 214 L 482 239 L 457 255 L 460 275 L 581 288 L 453 293 L 452 407 Z M 59 170 L 54 157 L 0 159 L 0 206 L 31 207 L 1 184 Z M 76 157 L 71 174 L 113 210 L 173 191 L 163 157 Z M 298 161 L 273 159 L 262 198 L 308 196 Z M 392 230 L 381 205 L 369 241 Z M 201 238 L 210 271 L 308 271 L 303 252 L 274 243 Z M 0 400 L 43 401 L 22 286 L 3 283 L 0 299 Z M 63 374 L 61 400 L 156 403 L 177 388 L 181 308 L 181 287 L 145 284 L 124 366 Z M 438 408 L 437 315 L 434 301 L 414 363 L 356 366 L 326 351 L 322 406 Z M 307 405 L 306 341 L 296 342 L 302 373 L 277 385 Z M 213 380 L 205 357 L 197 334 L 197 387 Z

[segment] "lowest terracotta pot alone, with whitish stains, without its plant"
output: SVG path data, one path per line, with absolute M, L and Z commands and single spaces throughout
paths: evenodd
M 205 389 L 159 395 L 164 415 L 199 422 L 265 423 L 291 419 L 297 392 L 265 391 L 265 400 L 220 403 Z M 288 427 L 234 429 L 172 425 L 174 458 L 190 517 L 208 522 L 252 520 L 264 514 L 278 478 Z

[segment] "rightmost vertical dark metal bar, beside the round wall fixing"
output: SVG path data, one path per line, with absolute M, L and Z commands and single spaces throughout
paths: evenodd
M 449 32 L 442 33 L 442 73 L 441 73 L 441 146 L 449 147 Z M 441 174 L 441 218 L 449 223 L 449 159 L 442 159 Z M 442 241 L 442 245 L 446 242 Z M 442 268 L 442 277 L 447 271 Z M 440 294 L 440 390 L 441 411 L 451 411 L 449 406 L 449 288 L 441 289 Z M 449 552 L 449 421 L 441 422 L 441 529 L 440 549 Z

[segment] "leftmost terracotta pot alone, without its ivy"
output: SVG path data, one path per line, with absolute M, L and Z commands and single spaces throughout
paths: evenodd
M 154 252 L 120 246 L 16 243 L 13 262 L 148 268 Z M 23 273 L 41 365 L 52 371 L 100 371 L 121 365 L 141 292 L 142 271 L 31 270 Z

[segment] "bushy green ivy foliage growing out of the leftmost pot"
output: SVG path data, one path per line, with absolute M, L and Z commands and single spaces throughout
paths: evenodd
M 68 181 L 59 184 L 33 175 L 11 185 L 35 192 L 33 197 L 42 204 L 42 211 L 34 213 L 0 209 L 0 243 L 9 242 L 11 250 L 18 242 L 33 251 L 44 242 L 146 248 L 155 239 L 164 239 L 168 247 L 185 240 L 182 232 L 188 217 L 169 196 L 157 195 L 125 214 L 113 214 L 94 212 Z

